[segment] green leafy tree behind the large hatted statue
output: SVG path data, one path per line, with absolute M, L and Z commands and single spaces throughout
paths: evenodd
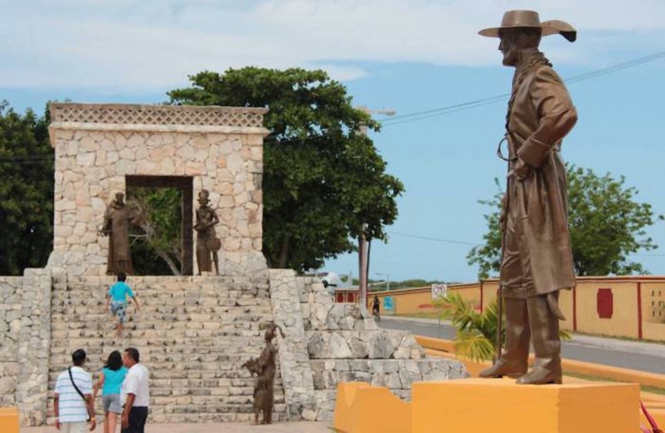
M 637 188 L 625 186 L 626 179 L 606 173 L 598 176 L 590 169 L 567 166 L 568 218 L 573 261 L 578 275 L 645 274 L 647 270 L 628 259 L 640 249 L 656 249 L 646 236 L 646 228 L 663 215 L 654 215 L 648 203 L 635 200 Z M 499 190 L 499 181 L 495 179 Z M 485 215 L 488 231 L 484 244 L 473 247 L 467 259 L 479 265 L 479 278 L 498 272 L 501 256 L 499 214 L 503 191 L 480 201 L 493 211 Z

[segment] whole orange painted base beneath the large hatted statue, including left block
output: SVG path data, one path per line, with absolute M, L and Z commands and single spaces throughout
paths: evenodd
M 511 379 L 415 382 L 412 403 L 364 382 L 337 385 L 340 433 L 639 432 L 639 385 L 516 385 Z M 654 410 L 659 421 L 658 409 Z

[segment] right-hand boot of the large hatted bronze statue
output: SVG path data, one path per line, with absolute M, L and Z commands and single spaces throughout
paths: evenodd
M 550 294 L 558 300 L 558 292 Z M 561 340 L 559 318 L 547 302 L 547 294 L 527 299 L 531 343 L 535 361 L 533 366 L 517 383 L 522 385 L 544 385 L 561 383 Z

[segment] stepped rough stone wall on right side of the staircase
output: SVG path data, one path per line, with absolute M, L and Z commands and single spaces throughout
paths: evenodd
M 270 289 L 275 321 L 285 326 L 285 332 L 299 338 L 303 335 L 302 344 L 285 346 L 282 342 L 280 346 L 287 405 L 290 387 L 298 389 L 301 396 L 308 396 L 307 401 L 313 392 L 319 421 L 332 420 L 339 382 L 370 382 L 408 399 L 415 381 L 467 375 L 461 362 L 426 358 L 423 348 L 409 333 L 380 329 L 359 306 L 334 303 L 317 278 L 273 269 Z M 296 304 L 294 299 L 299 302 Z M 293 375 L 299 380 L 287 380 L 285 349 L 289 357 L 308 359 L 306 366 L 299 362 L 297 369 L 301 373 Z

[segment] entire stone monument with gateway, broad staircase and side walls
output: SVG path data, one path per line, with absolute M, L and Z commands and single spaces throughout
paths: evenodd
M 267 269 L 261 252 L 266 109 L 76 103 L 49 109 L 53 253 L 45 269 L 0 277 L 9 308 L 0 311 L 0 327 L 9 329 L 1 397 L 19 408 L 22 425 L 53 423 L 49 378 L 71 364 L 78 348 L 88 353 L 91 371 L 109 350 L 139 348 L 141 362 L 155 372 L 155 423 L 244 423 L 257 408 L 265 409 L 266 421 L 330 421 L 339 382 L 368 380 L 405 398 L 414 380 L 466 375 L 459 362 L 427 359 L 408 333 L 377 328 L 364 308 L 332 303 L 319 279 Z M 130 267 L 125 233 L 141 215 L 127 211 L 124 198 L 127 188 L 141 187 L 181 191 L 182 275 L 130 277 L 141 312 L 117 342 L 107 338 L 113 323 L 105 297 L 115 279 L 106 274 Z M 220 247 L 219 275 L 197 275 L 208 268 L 193 260 L 195 232 L 202 251 Z M 212 236 L 221 245 L 210 245 Z M 264 335 L 267 323 L 286 336 L 273 344 L 277 328 Z M 257 382 L 242 366 L 262 351 Z

